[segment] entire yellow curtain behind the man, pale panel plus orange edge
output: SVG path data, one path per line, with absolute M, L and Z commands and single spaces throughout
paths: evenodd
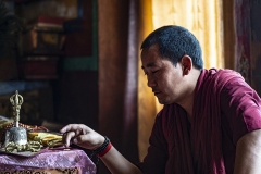
M 222 0 L 142 0 L 140 1 L 140 44 L 158 27 L 179 25 L 189 29 L 202 47 L 204 67 L 224 67 Z M 139 66 L 140 67 L 140 66 Z M 147 87 L 144 72 L 138 79 L 139 158 L 147 153 L 156 114 L 162 108 Z

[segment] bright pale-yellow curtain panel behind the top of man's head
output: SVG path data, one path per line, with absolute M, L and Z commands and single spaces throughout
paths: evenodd
M 152 0 L 153 28 L 181 25 L 202 47 L 206 67 L 223 67 L 223 22 L 221 0 Z

